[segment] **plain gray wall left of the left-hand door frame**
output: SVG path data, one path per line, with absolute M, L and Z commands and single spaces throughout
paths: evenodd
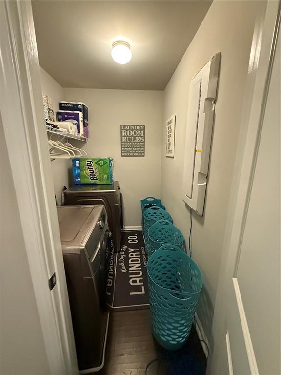
M 0 117 L 0 374 L 49 374 Z

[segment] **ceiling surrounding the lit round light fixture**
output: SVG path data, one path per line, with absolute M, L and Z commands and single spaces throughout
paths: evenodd
M 211 1 L 33 1 L 40 65 L 62 87 L 163 90 Z M 120 65 L 111 45 L 133 58 Z

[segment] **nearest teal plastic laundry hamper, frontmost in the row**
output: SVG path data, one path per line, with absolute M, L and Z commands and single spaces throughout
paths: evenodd
M 147 263 L 152 333 L 165 349 L 186 343 L 203 285 L 197 264 L 180 248 L 163 245 Z

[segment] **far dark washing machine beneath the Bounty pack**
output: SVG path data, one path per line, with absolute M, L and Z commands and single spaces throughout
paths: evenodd
M 66 205 L 103 204 L 108 214 L 108 226 L 113 236 L 115 252 L 120 251 L 123 229 L 122 193 L 118 181 L 111 185 L 75 185 L 64 191 Z

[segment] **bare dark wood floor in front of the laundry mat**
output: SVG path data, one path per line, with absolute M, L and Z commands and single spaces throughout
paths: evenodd
M 155 342 L 151 334 L 150 310 L 113 312 L 110 317 L 109 333 L 104 368 L 98 375 L 145 375 L 147 364 L 163 355 L 172 355 Z M 195 329 L 192 327 L 188 341 L 181 354 L 196 356 L 206 368 L 206 357 Z M 166 375 L 168 362 L 155 362 L 149 366 L 147 375 Z M 196 374 L 199 374 L 198 372 Z

